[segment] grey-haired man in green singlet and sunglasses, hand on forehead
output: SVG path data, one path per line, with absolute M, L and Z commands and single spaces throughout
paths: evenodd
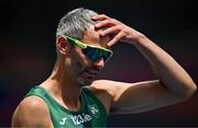
M 155 109 L 185 101 L 197 90 L 167 53 L 105 14 L 82 8 L 73 10 L 61 20 L 56 37 L 57 60 L 52 74 L 20 103 L 13 127 L 105 127 L 109 114 Z M 112 56 L 109 48 L 119 40 L 138 48 L 158 80 L 95 80 Z

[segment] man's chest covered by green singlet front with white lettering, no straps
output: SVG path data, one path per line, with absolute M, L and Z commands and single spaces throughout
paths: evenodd
M 51 109 L 51 118 L 55 127 L 98 127 L 105 126 L 105 112 L 97 104 L 87 105 L 80 112 Z

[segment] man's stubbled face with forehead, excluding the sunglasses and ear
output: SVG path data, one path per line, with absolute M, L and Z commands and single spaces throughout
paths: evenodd
M 85 44 L 107 47 L 107 43 L 110 40 L 109 37 L 100 37 L 99 31 L 94 28 L 94 25 L 90 25 L 90 28 L 87 30 L 84 38 L 80 39 Z M 98 59 L 97 61 L 90 60 L 86 55 L 84 55 L 80 47 L 74 47 L 74 51 L 70 57 L 70 73 L 81 85 L 89 85 L 96 79 L 97 73 L 105 67 L 103 58 Z

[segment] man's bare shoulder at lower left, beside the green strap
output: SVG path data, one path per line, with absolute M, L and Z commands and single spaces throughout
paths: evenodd
M 48 107 L 38 96 L 25 97 L 12 117 L 13 127 L 52 126 Z

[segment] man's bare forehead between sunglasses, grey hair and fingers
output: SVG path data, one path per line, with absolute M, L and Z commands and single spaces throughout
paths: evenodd
M 80 39 L 82 43 L 94 46 L 107 48 L 107 43 L 110 42 L 110 36 L 100 36 L 101 30 L 95 30 L 95 25 L 89 24 L 87 32 Z

